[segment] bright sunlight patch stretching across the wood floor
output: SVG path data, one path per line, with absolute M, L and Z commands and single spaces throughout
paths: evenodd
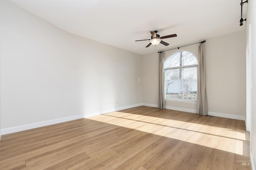
M 87 119 L 244 155 L 246 135 L 233 129 L 118 111 Z

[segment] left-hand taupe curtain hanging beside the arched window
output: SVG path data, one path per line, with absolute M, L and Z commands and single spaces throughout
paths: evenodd
M 159 90 L 158 90 L 158 108 L 165 109 L 164 100 L 164 53 L 159 53 Z

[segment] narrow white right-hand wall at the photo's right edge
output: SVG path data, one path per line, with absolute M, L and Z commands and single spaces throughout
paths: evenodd
M 252 117 L 251 117 L 251 128 L 250 128 L 250 158 L 252 166 L 256 169 L 256 1 L 249 0 L 247 5 L 246 14 L 246 42 L 248 41 L 248 30 L 249 24 L 252 27 Z

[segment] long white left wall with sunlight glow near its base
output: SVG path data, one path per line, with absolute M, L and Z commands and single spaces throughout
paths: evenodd
M 67 33 L 6 0 L 0 44 L 3 134 L 142 104 L 141 55 Z

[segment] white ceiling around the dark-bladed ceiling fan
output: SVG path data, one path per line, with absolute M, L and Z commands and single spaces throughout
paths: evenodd
M 245 29 L 240 0 L 10 1 L 69 33 L 142 55 Z M 163 39 L 168 46 L 135 42 L 150 39 L 154 30 L 177 37 Z

